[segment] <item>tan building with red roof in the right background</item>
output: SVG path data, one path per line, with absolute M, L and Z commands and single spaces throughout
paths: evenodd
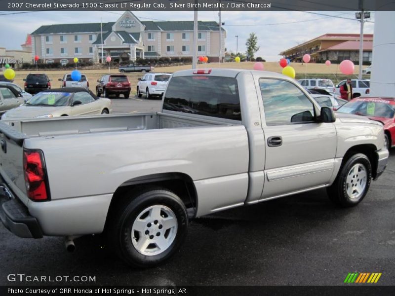
M 311 63 L 340 63 L 343 60 L 359 60 L 359 34 L 324 34 L 280 53 L 292 62 L 302 62 L 303 55 L 310 54 Z M 373 34 L 363 35 L 363 64 L 371 64 Z

